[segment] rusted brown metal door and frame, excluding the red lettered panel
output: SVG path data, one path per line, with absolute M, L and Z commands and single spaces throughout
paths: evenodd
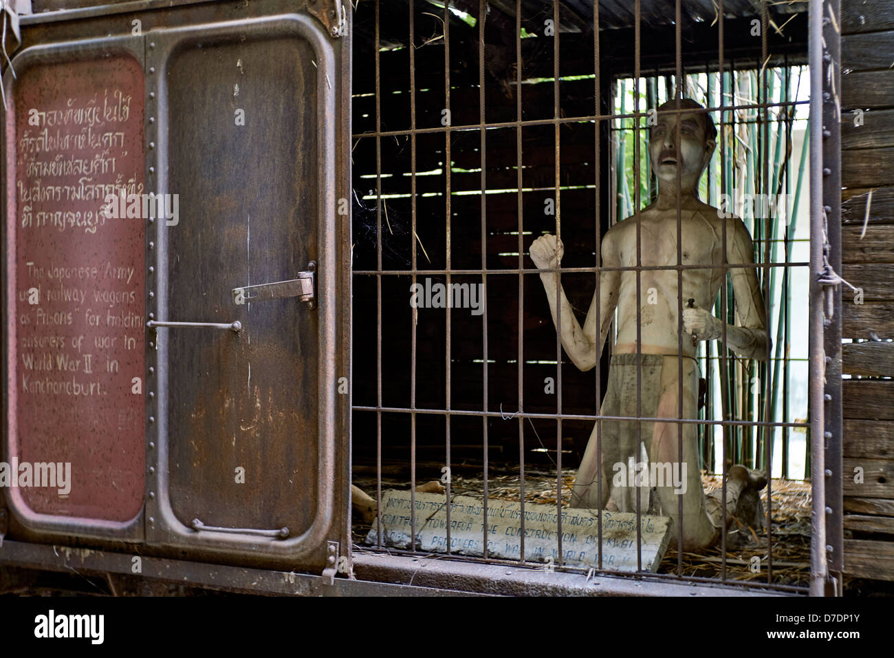
M 99 536 L 114 546 L 142 540 L 145 519 L 144 545 L 166 554 L 318 574 L 335 544 L 349 560 L 337 565 L 343 570 L 350 565 L 350 393 L 336 394 L 336 378 L 350 376 L 350 270 L 339 263 L 350 257 L 350 215 L 336 211 L 350 196 L 350 41 L 331 38 L 290 0 L 80 7 L 29 17 L 17 63 L 38 51 L 41 65 L 52 63 L 48 54 L 60 42 L 80 38 L 68 50 L 102 56 L 114 72 L 118 51 L 132 48 L 140 131 L 130 152 L 139 183 L 145 173 L 146 192 L 179 196 L 179 220 L 149 218 L 131 258 L 143 361 L 135 372 L 141 394 L 132 396 L 139 445 L 126 456 L 135 463 L 139 514 L 124 528 L 67 517 L 27 534 L 13 514 L 7 539 Z M 135 18 L 140 37 L 131 37 Z M 104 88 L 116 80 L 98 77 Z M 12 90 L 8 75 L 6 83 Z M 72 75 L 69 84 L 83 90 L 90 78 Z M 244 124 L 234 121 L 236 109 Z M 131 121 L 136 114 L 131 107 Z M 15 153 L 15 130 L 7 124 L 7 155 Z M 4 167 L 13 172 L 4 181 L 13 209 L 3 226 L 6 272 L 18 267 L 14 164 Z M 97 253 L 113 255 L 105 244 Z M 234 287 L 301 279 L 312 261 L 316 310 L 295 297 L 234 303 Z M 13 279 L 3 291 L 11 318 L 20 305 Z M 300 292 L 307 297 L 307 286 Z M 16 326 L 6 324 L 14 344 Z M 18 358 L 4 363 L 11 382 Z M 15 408 L 14 393 L 4 405 Z M 124 454 L 114 432 L 100 438 Z M 67 445 L 62 439 L 47 441 Z M 244 485 L 237 468 L 245 469 Z M 264 536 L 283 527 L 286 538 L 282 530 Z

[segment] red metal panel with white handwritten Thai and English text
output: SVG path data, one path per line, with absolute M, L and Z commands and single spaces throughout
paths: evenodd
M 8 491 L 32 529 L 140 530 L 145 233 L 139 217 L 101 214 L 106 194 L 143 192 L 134 41 L 26 49 L 14 60 L 18 81 L 7 72 L 4 82 L 4 455 L 71 465 L 65 495 Z

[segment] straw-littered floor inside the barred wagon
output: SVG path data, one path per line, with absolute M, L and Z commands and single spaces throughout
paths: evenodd
M 571 485 L 577 472 L 562 472 L 562 507 L 568 507 Z M 484 480 L 481 478 L 451 478 L 451 494 L 482 498 Z M 423 481 L 418 481 L 417 486 Z M 374 477 L 355 477 L 354 484 L 375 498 Z M 488 477 L 489 499 L 519 500 L 519 474 L 495 473 Z M 719 475 L 702 474 L 704 491 L 713 491 L 721 486 Z M 382 488 L 409 489 L 409 482 L 383 475 Z M 729 580 L 749 580 L 769 582 L 775 585 L 807 585 L 810 574 L 810 483 L 773 480 L 772 490 L 772 534 L 768 542 L 763 529 L 743 526 L 733 520 L 727 533 L 726 577 Z M 528 470 L 525 474 L 525 500 L 544 505 L 556 504 L 555 474 L 546 471 Z M 767 490 L 762 491 L 763 508 L 767 508 Z M 353 526 L 354 543 L 364 546 L 368 525 L 355 519 Z M 768 557 L 772 548 L 772 567 Z M 760 570 L 752 571 L 753 558 L 760 558 Z M 681 568 L 684 577 L 722 577 L 723 560 L 721 545 L 717 544 L 700 553 L 684 552 L 682 560 L 674 548 L 669 548 L 658 568 L 659 573 L 677 573 Z M 772 569 L 772 570 L 771 570 Z

